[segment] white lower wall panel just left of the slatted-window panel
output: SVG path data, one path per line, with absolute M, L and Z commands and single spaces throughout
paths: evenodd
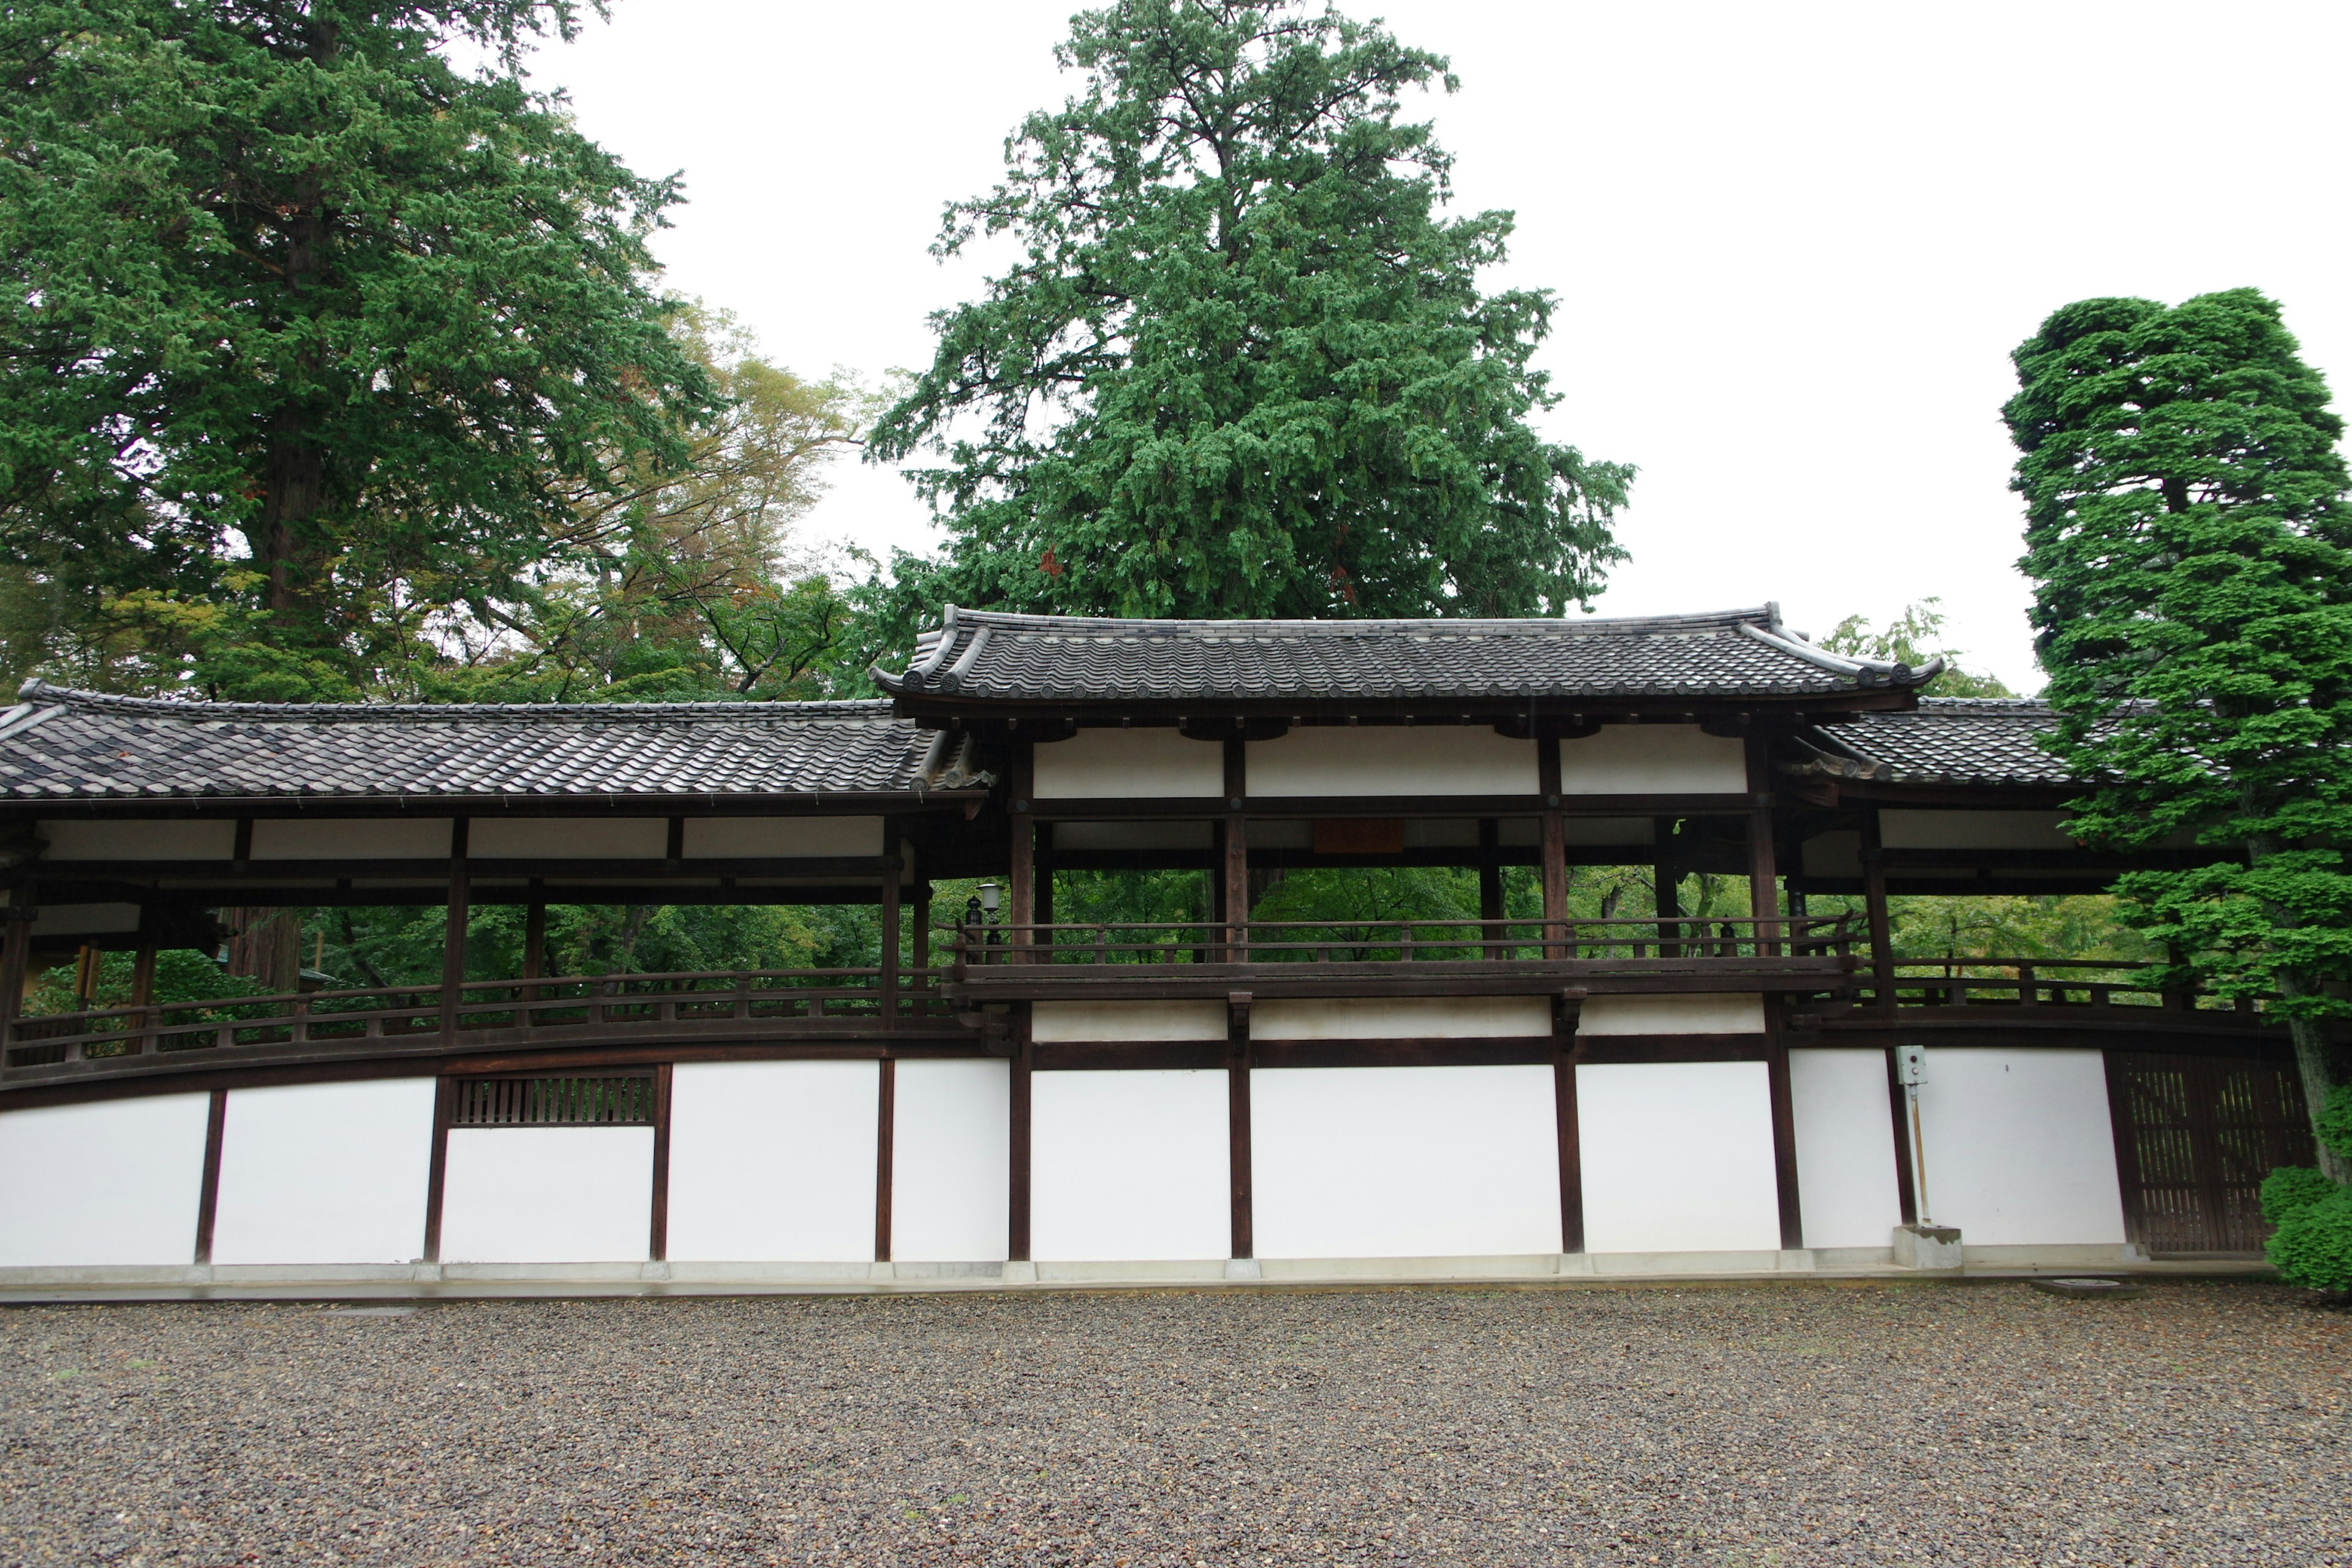
M 414 1262 L 426 1248 L 433 1079 L 235 1088 L 214 1262 Z

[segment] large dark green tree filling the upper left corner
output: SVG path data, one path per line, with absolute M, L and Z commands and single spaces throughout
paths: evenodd
M 0 545 L 143 592 L 240 696 L 348 696 L 452 585 L 517 592 L 574 517 L 550 475 L 680 458 L 713 386 L 652 282 L 677 190 L 517 75 L 574 21 L 0 9 Z

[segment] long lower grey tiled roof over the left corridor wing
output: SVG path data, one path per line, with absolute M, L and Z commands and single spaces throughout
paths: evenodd
M 193 703 L 31 682 L 0 715 L 0 799 L 870 795 L 971 783 L 948 750 L 889 703 Z

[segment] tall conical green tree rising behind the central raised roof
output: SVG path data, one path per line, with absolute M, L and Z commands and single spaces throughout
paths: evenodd
M 1120 0 L 1084 87 L 948 209 L 1018 261 L 934 317 L 870 456 L 931 451 L 943 599 L 1148 616 L 1555 614 L 1623 559 L 1630 468 L 1543 440 L 1548 292 L 1482 294 L 1508 212 L 1446 219 L 1399 94 L 1446 61 L 1294 0 Z

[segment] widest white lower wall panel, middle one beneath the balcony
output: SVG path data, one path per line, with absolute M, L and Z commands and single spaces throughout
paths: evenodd
M 1249 1079 L 1261 1258 L 1559 1251 L 1550 1067 L 1279 1067 Z

